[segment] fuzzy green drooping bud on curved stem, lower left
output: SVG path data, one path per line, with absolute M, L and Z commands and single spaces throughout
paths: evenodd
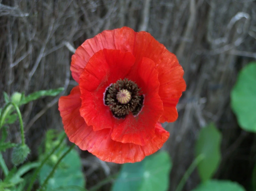
M 23 163 L 27 159 L 27 156 L 29 153 L 30 153 L 30 149 L 26 144 L 25 145 L 19 144 L 17 147 L 15 147 L 12 150 L 12 153 L 11 153 L 12 163 L 15 166 Z

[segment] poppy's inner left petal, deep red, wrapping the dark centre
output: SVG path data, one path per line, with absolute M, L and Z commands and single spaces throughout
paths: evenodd
M 80 113 L 95 131 L 112 128 L 113 124 L 118 123 L 109 107 L 104 105 L 104 92 L 111 83 L 126 76 L 134 60 L 130 52 L 104 49 L 91 57 L 81 73 L 79 87 L 82 106 Z

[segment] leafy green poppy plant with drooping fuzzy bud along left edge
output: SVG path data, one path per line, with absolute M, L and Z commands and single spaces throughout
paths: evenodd
M 42 164 L 42 161 L 27 162 L 19 166 L 19 168 L 13 167 L 9 171 L 5 160 L 2 157 L 1 152 L 14 148 L 12 152 L 12 162 L 15 165 L 18 165 L 26 160 L 30 151 L 24 141 L 23 121 L 18 107 L 30 101 L 41 98 L 42 96 L 56 96 L 61 91 L 63 91 L 63 88 L 58 88 L 55 90 L 41 90 L 28 96 L 25 96 L 24 93 L 14 92 L 11 98 L 9 98 L 6 92 L 3 93 L 5 106 L 0 108 L 0 167 L 3 170 L 4 178 L 0 179 L 1 191 L 24 191 L 26 185 L 31 180 L 31 170 L 38 168 Z M 21 127 L 21 139 L 23 140 L 21 144 L 8 141 L 8 125 L 15 123 L 18 117 Z

